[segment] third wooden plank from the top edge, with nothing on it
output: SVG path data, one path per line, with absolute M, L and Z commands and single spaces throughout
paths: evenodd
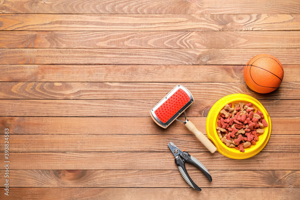
M 0 48 L 299 48 L 300 31 L 1 31 Z

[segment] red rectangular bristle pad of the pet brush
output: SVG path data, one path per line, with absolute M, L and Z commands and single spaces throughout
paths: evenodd
M 166 123 L 189 101 L 190 97 L 187 93 L 182 89 L 178 89 L 169 99 L 155 110 L 155 115 L 163 123 Z

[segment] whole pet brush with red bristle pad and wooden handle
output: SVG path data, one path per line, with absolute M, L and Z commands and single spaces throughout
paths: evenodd
M 190 91 L 182 85 L 177 85 L 171 90 L 162 100 L 158 102 L 150 110 L 150 115 L 156 124 L 163 128 L 167 128 L 185 109 L 188 108 L 194 102 L 194 98 Z M 184 112 L 185 121 L 181 121 L 195 136 L 202 142 L 202 144 L 211 152 L 214 153 L 217 148 L 201 133 L 195 125 L 186 118 Z

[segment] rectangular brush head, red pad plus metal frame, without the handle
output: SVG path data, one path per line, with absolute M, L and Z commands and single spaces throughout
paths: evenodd
M 177 85 L 150 110 L 150 115 L 155 123 L 167 128 L 193 102 L 190 91 L 182 85 Z

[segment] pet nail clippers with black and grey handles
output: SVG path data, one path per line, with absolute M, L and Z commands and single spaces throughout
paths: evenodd
M 195 190 L 201 191 L 201 188 L 199 188 L 194 181 L 190 178 L 190 176 L 187 173 L 187 170 L 185 169 L 185 163 L 191 163 L 194 166 L 196 166 L 198 169 L 200 169 L 205 176 L 208 178 L 208 180 L 211 182 L 212 178 L 211 175 L 209 174 L 208 170 L 206 169 L 206 167 L 199 162 L 199 160 L 197 160 L 196 158 L 194 158 L 193 156 L 191 156 L 188 152 L 181 151 L 178 147 L 176 147 L 173 142 L 170 142 L 168 144 L 170 150 L 172 151 L 172 153 L 175 156 L 175 163 L 178 166 L 179 172 L 182 175 L 182 178 L 184 178 L 184 180 L 191 186 L 193 187 Z

